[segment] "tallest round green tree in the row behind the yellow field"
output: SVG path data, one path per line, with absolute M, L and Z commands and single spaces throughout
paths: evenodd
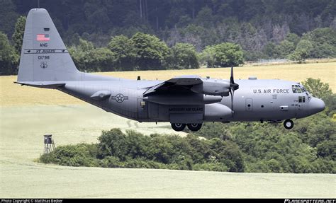
M 167 45 L 154 35 L 136 33 L 130 38 L 135 48 L 136 64 L 140 70 L 162 69 L 169 52 Z

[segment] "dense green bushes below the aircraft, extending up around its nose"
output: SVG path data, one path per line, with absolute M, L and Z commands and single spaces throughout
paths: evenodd
M 247 173 L 336 173 L 336 94 L 327 83 L 307 79 L 303 85 L 323 98 L 323 112 L 282 124 L 259 122 L 203 123 L 188 135 L 132 130 L 103 131 L 96 144 L 57 146 L 42 163 L 103 168 L 161 168 Z

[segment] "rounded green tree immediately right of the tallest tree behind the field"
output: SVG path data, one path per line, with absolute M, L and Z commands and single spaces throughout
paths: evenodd
M 167 61 L 170 69 L 199 68 L 195 47 L 186 43 L 177 43 L 172 47 Z

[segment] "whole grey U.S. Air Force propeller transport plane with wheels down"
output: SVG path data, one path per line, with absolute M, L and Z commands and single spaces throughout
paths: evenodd
M 203 122 L 281 122 L 324 110 L 299 83 L 177 76 L 167 81 L 128 80 L 77 70 L 49 13 L 29 11 L 15 83 L 55 88 L 107 112 L 139 122 L 170 122 L 176 131 L 201 129 Z

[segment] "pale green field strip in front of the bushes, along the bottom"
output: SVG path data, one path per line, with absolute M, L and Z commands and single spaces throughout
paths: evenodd
M 335 198 L 335 176 L 326 174 L 71 168 L 9 161 L 1 163 L 0 172 L 1 197 Z

